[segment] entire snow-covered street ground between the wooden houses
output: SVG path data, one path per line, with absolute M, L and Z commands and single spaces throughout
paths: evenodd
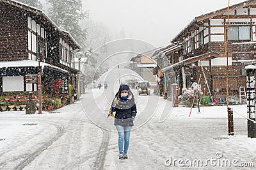
M 129 159 L 118 160 L 118 134 L 113 119 L 103 114 L 109 105 L 103 102 L 102 92 L 94 89 L 95 100 L 88 92 L 81 102 L 54 112 L 1 112 L 0 169 L 187 169 L 177 162 L 170 165 L 168 160 L 200 159 L 205 164 L 211 158 L 256 166 L 255 139 L 247 138 L 245 118 L 234 113 L 234 136 L 227 135 L 227 106 L 201 107 L 200 114 L 194 108 L 190 118 L 190 108 L 175 107 L 159 123 L 164 105 L 171 104 L 157 96 L 136 97 L 138 116 L 131 132 Z M 157 107 L 148 105 L 150 101 L 158 103 Z M 232 108 L 246 116 L 246 105 Z M 145 118 L 149 119 L 143 123 Z M 195 167 L 243 169 L 210 162 L 202 166 Z

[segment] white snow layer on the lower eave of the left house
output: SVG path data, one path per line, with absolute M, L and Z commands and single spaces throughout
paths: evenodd
M 29 59 L 25 59 L 25 60 L 20 60 L 20 61 L 1 61 L 0 62 L 0 68 L 5 68 L 5 67 L 24 67 L 24 66 L 38 66 L 38 61 L 33 61 L 33 60 L 29 60 Z M 67 70 L 64 70 L 58 66 L 53 66 L 53 65 L 49 65 L 47 63 L 44 62 L 40 62 L 40 66 L 42 66 L 42 69 L 44 69 L 44 66 L 49 66 L 51 68 L 56 68 L 58 70 L 61 70 L 63 72 L 68 72 Z

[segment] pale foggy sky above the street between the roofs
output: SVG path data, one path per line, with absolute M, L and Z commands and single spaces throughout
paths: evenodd
M 228 6 L 228 0 L 82 0 L 90 19 L 102 22 L 126 38 L 144 40 L 156 47 L 168 45 L 191 20 Z M 230 0 L 230 5 L 245 0 Z

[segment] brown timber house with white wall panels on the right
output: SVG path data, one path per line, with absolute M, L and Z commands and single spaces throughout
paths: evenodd
M 229 16 L 229 17 L 228 17 Z M 226 68 L 228 93 L 239 95 L 246 86 L 244 66 L 255 65 L 256 1 L 244 1 L 221 10 L 195 17 L 171 42 L 181 44 L 179 52 L 167 54 L 181 88 L 201 84 L 212 97 L 225 97 Z M 180 88 L 180 89 L 181 89 Z

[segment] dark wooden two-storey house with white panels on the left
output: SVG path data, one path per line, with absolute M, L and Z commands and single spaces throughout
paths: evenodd
M 81 47 L 70 33 L 42 10 L 17 1 L 0 0 L 0 17 L 0 95 L 37 91 L 39 70 L 44 93 L 75 93 L 78 70 L 72 61 Z

